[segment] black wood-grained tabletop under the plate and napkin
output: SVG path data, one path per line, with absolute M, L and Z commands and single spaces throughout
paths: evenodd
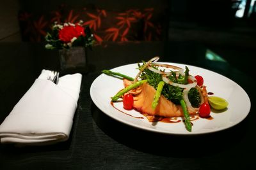
M 226 62 L 205 59 L 207 49 Z M 255 161 L 254 48 L 212 46 L 198 42 L 108 43 L 88 51 L 88 72 L 68 141 L 17 148 L 0 144 L 0 169 L 251 169 Z M 232 54 L 232 55 L 231 55 Z M 108 117 L 95 106 L 90 86 L 102 69 L 160 56 L 223 74 L 248 94 L 251 110 L 240 124 L 220 132 L 177 136 L 143 131 Z M 0 123 L 42 69 L 58 69 L 58 52 L 42 44 L 0 44 Z M 231 57 L 230 57 L 231 56 Z M 247 57 L 247 58 L 246 58 Z M 243 107 L 243 106 L 241 106 Z

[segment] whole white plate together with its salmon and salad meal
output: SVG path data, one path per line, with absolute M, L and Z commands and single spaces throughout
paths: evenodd
M 234 81 L 205 69 L 200 74 L 200 68 L 195 66 L 157 60 L 159 57 L 102 71 L 104 74 L 93 81 L 90 89 L 93 102 L 120 122 L 172 134 L 200 134 L 227 129 L 241 122 L 250 111 L 250 99 Z M 237 119 L 235 122 L 230 111 L 236 107 L 237 101 L 230 98 L 232 94 L 229 92 L 221 93 L 222 90 L 218 90 L 220 85 L 211 83 L 209 75 L 213 81 L 216 76 L 223 79 L 220 81 L 224 83 L 223 89 L 239 89 L 239 94 L 243 94 L 241 97 L 249 101 L 239 118 L 237 113 L 233 113 Z M 104 89 L 100 90 L 102 87 Z

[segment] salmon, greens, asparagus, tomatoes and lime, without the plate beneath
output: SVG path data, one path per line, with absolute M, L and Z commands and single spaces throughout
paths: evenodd
M 186 129 L 191 132 L 191 115 L 208 118 L 211 113 L 204 78 L 200 75 L 191 76 L 187 66 L 184 71 L 170 64 L 158 64 L 157 60 L 159 57 L 154 57 L 142 65 L 138 64 L 135 78 L 109 70 L 102 71 L 124 78 L 125 89 L 120 90 L 111 101 L 116 102 L 122 98 L 125 110 L 136 109 L 149 122 L 184 117 Z M 214 99 L 219 100 L 211 104 L 214 109 L 223 110 L 228 106 L 225 99 Z

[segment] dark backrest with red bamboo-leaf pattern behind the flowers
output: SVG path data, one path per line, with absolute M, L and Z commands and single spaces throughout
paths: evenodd
M 29 41 L 44 41 L 46 32 L 54 22 L 77 23 L 83 20 L 83 25 L 90 27 L 93 37 L 98 44 L 103 41 L 153 41 L 160 40 L 162 27 L 154 20 L 154 8 L 144 10 L 130 9 L 113 13 L 103 9 L 88 10 L 83 8 L 81 12 L 65 6 L 40 15 L 36 18 L 28 12 L 19 14 L 22 35 Z M 63 12 L 67 11 L 67 13 Z M 111 15 L 109 14 L 111 12 Z

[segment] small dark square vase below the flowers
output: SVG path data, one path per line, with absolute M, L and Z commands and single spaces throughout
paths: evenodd
M 86 48 L 76 46 L 59 50 L 62 73 L 86 73 Z

